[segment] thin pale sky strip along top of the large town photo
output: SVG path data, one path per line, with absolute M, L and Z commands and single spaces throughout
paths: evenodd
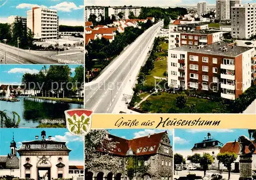
M 86 6 L 181 6 L 197 5 L 199 0 L 86 0 Z M 216 0 L 204 1 L 208 5 L 215 5 Z M 253 3 L 255 0 L 242 0 L 242 3 Z M 181 6 L 182 7 L 182 6 Z

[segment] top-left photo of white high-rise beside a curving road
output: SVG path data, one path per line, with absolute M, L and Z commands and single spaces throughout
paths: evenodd
M 1 64 L 83 64 L 82 0 L 0 4 Z

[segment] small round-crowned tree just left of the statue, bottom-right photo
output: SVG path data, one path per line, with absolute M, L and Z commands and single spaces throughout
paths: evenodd
M 217 160 L 219 160 L 220 163 L 224 164 L 224 166 L 228 170 L 228 179 L 230 179 L 231 164 L 234 163 L 237 158 L 238 155 L 234 152 L 224 152 L 217 155 Z

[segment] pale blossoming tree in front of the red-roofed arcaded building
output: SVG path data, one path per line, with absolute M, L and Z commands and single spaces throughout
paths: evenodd
M 117 142 L 109 138 L 108 133 L 108 130 L 105 129 L 91 129 L 84 136 L 84 168 L 86 174 L 91 168 L 94 168 L 95 171 L 101 169 L 113 171 L 120 167 L 118 160 L 109 155 L 111 149 L 116 148 Z

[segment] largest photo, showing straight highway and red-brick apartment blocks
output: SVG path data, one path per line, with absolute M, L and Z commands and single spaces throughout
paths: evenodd
M 87 1 L 85 107 L 95 113 L 256 113 L 255 6 Z

